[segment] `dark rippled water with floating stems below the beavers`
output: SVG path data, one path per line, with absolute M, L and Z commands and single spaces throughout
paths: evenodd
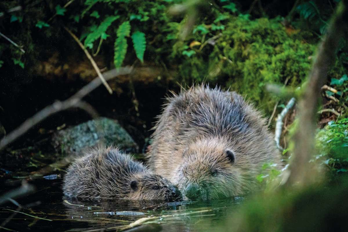
M 61 180 L 40 180 L 38 191 L 0 208 L 1 224 L 14 231 L 211 231 L 240 206 L 243 198 L 211 202 L 81 202 L 63 196 Z M 15 202 L 16 203 L 16 202 Z M 28 205 L 25 207 L 25 205 Z M 31 205 L 31 206 L 30 206 Z M 52 221 L 47 221 L 44 219 Z M 146 219 L 141 219 L 146 218 Z M 149 219 L 151 218 L 151 219 Z M 131 227 L 141 219 L 142 223 Z M 7 231 L 0 229 L 1 231 Z

